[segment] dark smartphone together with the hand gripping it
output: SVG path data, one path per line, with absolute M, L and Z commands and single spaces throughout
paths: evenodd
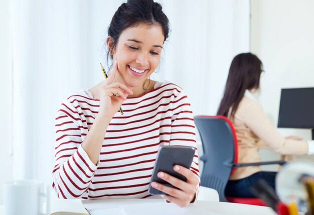
M 199 183 L 197 175 L 190 170 L 194 154 L 195 148 L 192 146 L 161 146 L 148 192 L 161 194 L 163 198 L 180 207 L 189 205 L 195 198 Z

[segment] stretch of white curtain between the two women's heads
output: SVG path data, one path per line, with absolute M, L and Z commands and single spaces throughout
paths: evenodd
M 195 115 L 216 114 L 232 58 L 249 51 L 249 0 L 161 2 L 172 31 L 152 77 L 182 86 Z

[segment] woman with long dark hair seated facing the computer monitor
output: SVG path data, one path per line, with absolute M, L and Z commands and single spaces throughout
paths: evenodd
M 298 136 L 282 137 L 271 124 L 262 106 L 250 91 L 259 89 L 263 72 L 261 60 L 252 53 L 236 55 L 230 65 L 224 96 L 218 115 L 233 123 L 238 140 L 238 162 L 259 162 L 258 150 L 267 145 L 281 154 L 313 154 L 314 141 L 302 141 Z M 249 187 L 259 178 L 275 188 L 276 172 L 261 171 L 260 166 L 237 168 L 226 186 L 226 196 L 254 197 Z

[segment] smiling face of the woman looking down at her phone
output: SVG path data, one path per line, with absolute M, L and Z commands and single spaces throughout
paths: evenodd
M 142 90 L 148 76 L 158 66 L 164 43 L 160 25 L 138 24 L 122 31 L 113 50 L 113 60 L 118 61 L 115 80 Z M 110 47 L 110 37 L 107 39 Z

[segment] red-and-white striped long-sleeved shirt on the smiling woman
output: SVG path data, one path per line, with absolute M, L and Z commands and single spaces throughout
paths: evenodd
M 111 119 L 94 165 L 81 146 L 99 110 L 84 90 L 68 97 L 56 117 L 53 189 L 59 198 L 145 198 L 161 145 L 196 148 L 193 113 L 186 93 L 164 82 L 127 98 Z M 191 170 L 199 177 L 195 153 Z M 199 185 L 197 186 L 198 193 Z

